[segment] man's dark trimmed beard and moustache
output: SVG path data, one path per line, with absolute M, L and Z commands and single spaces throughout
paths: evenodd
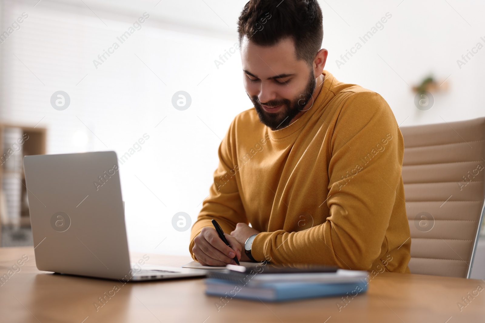
M 265 102 L 265 106 L 277 107 L 279 105 L 284 105 L 278 112 L 266 112 L 259 102 L 258 96 L 249 97 L 254 104 L 256 113 L 258 113 L 259 121 L 266 126 L 270 127 L 271 130 L 275 131 L 278 129 L 283 129 L 291 123 L 291 120 L 301 111 L 306 111 L 306 105 L 310 98 L 312 97 L 313 91 L 317 86 L 315 81 L 315 74 L 311 70 L 310 77 L 308 78 L 307 86 L 303 93 L 299 94 L 292 101 L 288 99 L 273 100 Z M 249 96 L 249 94 L 248 94 Z M 313 103 L 312 103 L 313 104 Z M 310 106 L 311 108 L 311 106 Z

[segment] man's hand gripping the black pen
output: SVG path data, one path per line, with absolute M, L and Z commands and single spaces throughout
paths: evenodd
M 194 238 L 192 248 L 197 261 L 209 266 L 225 266 L 228 263 L 235 265 L 233 258 L 236 256 L 238 260 L 241 259 L 242 246 L 234 237 L 227 233 L 224 235 L 230 247 L 219 238 L 214 228 L 203 228 Z

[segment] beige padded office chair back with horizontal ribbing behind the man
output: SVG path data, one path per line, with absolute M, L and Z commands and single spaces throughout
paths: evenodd
M 485 210 L 485 118 L 401 132 L 409 269 L 469 278 Z

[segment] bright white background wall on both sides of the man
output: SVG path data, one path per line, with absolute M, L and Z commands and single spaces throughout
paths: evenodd
M 320 1 L 323 47 L 329 50 L 325 69 L 380 93 L 404 126 L 484 116 L 479 94 L 485 49 L 461 69 L 456 60 L 477 42 L 485 45 L 485 6 L 447 1 Z M 42 0 L 35 7 L 37 0 L 4 2 L 0 31 L 22 12 L 29 17 L 0 45 L 1 121 L 40 121 L 49 129 L 49 154 L 121 155 L 148 134 L 120 170 L 129 246 L 188 254 L 190 230 L 174 230 L 172 216 L 183 211 L 195 221 L 217 166 L 220 138 L 232 118 L 252 106 L 242 87 L 239 54 L 219 69 L 214 64 L 237 41 L 236 19 L 245 1 L 84 1 L 90 9 L 73 0 Z M 96 69 L 97 55 L 144 12 L 150 18 L 142 29 Z M 339 68 L 335 60 L 386 13 L 392 17 L 384 28 Z M 451 74 L 450 90 L 436 94 L 429 111 L 420 111 L 410 87 L 430 72 L 440 79 Z M 71 97 L 64 111 L 49 103 L 58 90 Z M 180 90 L 192 97 L 185 111 L 171 104 Z

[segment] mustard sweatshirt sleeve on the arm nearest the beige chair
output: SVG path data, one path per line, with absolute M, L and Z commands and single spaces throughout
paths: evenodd
M 322 165 L 321 171 L 328 171 L 329 192 L 322 200 L 329 216 L 305 231 L 258 234 L 252 247 L 256 260 L 368 270 L 380 256 L 394 204 L 404 204 L 398 189 L 401 131 L 387 102 L 375 92 L 349 95 L 328 124 L 331 139 L 323 149 L 330 159 L 328 169 Z

